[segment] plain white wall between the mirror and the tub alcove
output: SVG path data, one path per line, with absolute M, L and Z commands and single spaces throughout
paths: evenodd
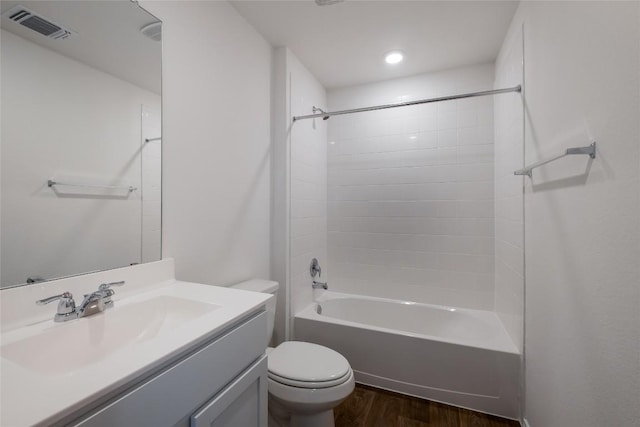
M 163 257 L 182 280 L 268 278 L 272 49 L 227 2 L 140 4 L 163 21 Z

